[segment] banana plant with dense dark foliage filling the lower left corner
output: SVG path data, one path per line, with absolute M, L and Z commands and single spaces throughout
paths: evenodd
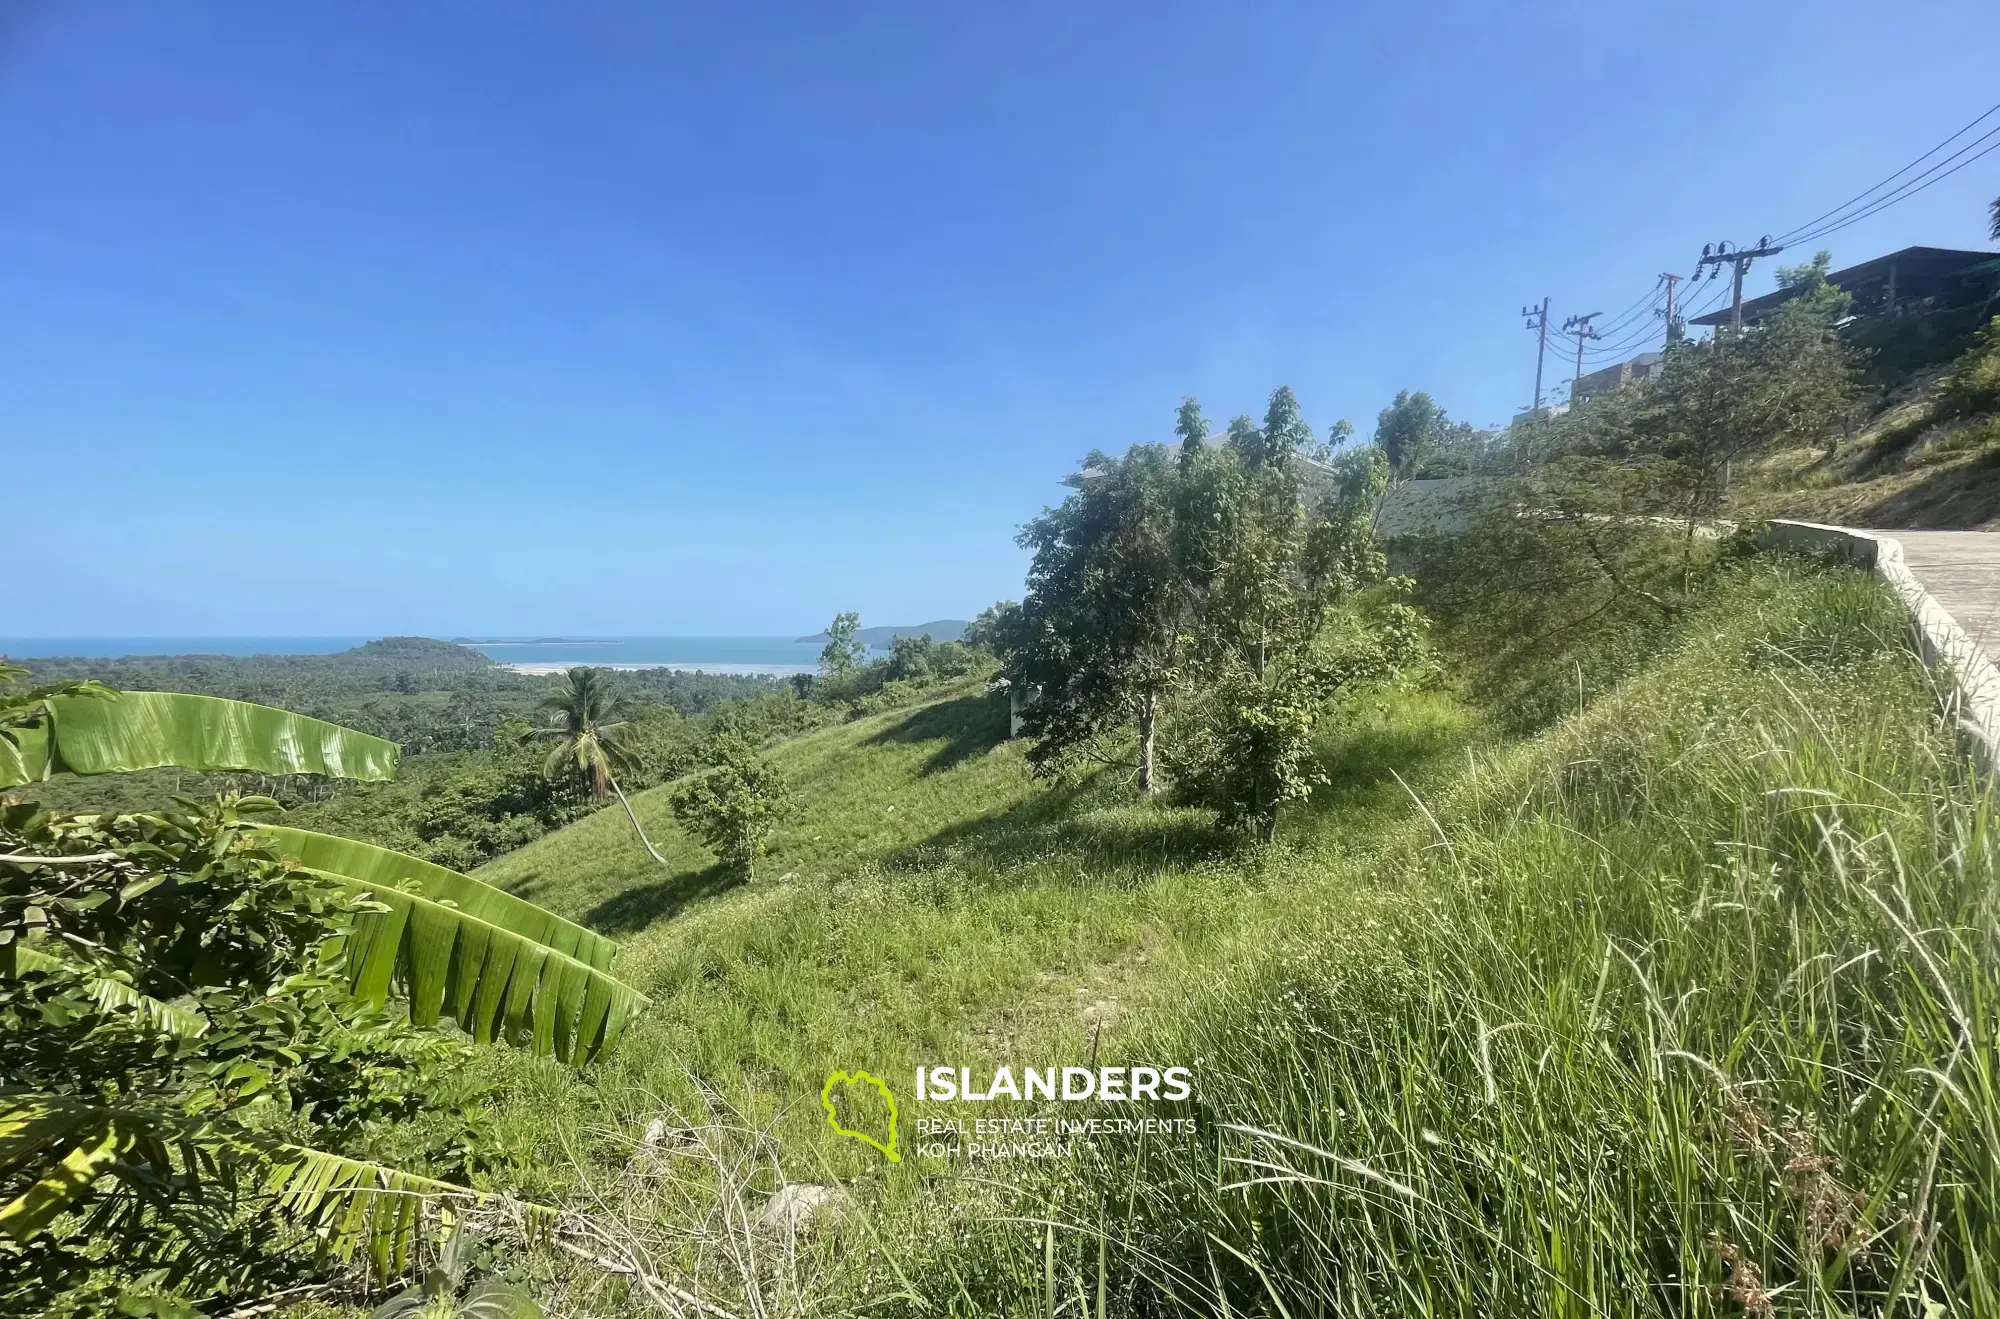
M 0 691 L 0 785 L 156 765 L 380 779 L 394 763 L 394 743 L 244 701 Z M 644 1005 L 604 971 L 602 935 L 414 857 L 268 825 L 272 809 L 0 807 L 0 1301 L 184 1313 L 174 1297 L 328 1255 L 400 1271 L 444 1207 L 490 1199 L 436 1177 L 464 1151 L 424 1173 L 368 1159 L 384 1123 L 440 1107 L 458 1049 L 412 1027 L 454 1017 L 476 1041 L 588 1061 Z

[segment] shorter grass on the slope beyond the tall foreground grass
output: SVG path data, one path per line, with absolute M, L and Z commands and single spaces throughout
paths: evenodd
M 1004 715 L 974 685 L 778 745 L 804 805 L 770 879 L 708 865 L 662 789 L 634 807 L 670 873 L 616 807 L 478 871 L 622 933 L 618 971 L 656 1003 L 588 1075 L 484 1055 L 506 1085 L 500 1143 L 518 1185 L 574 1195 L 654 1117 L 700 1121 L 706 1095 L 774 1123 L 800 1179 L 880 1179 L 880 1157 L 820 1117 L 830 1071 L 1084 1061 L 1096 1037 L 1112 1049 L 1170 967 L 1198 965 L 1298 865 L 1414 817 L 1392 769 L 1422 785 L 1480 739 L 1450 695 L 1370 701 L 1326 743 L 1340 783 L 1288 821 L 1284 847 L 1244 853 L 1204 813 L 1130 805 L 1108 777 L 1036 785 L 1024 743 L 1002 741 Z M 904 1105 L 906 1127 L 918 1111 Z M 884 1189 L 922 1193 L 910 1179 Z

